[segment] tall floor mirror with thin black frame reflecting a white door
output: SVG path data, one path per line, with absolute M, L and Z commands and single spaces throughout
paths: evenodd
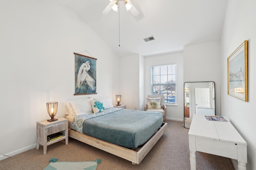
M 215 83 L 184 83 L 184 127 L 190 128 L 194 114 L 215 115 Z

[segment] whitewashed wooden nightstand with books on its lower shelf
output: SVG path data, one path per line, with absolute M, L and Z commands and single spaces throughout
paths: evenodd
M 54 141 L 47 141 L 47 135 L 61 132 L 63 137 Z M 36 149 L 39 149 L 39 144 L 44 146 L 44 154 L 46 154 L 47 146 L 65 139 L 68 145 L 68 119 L 58 118 L 56 121 L 38 121 L 36 122 Z

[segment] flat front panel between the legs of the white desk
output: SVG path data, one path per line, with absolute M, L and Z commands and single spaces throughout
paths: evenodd
M 196 137 L 196 150 L 199 152 L 215 154 L 236 160 L 238 159 L 237 145 L 234 143 L 214 141 Z

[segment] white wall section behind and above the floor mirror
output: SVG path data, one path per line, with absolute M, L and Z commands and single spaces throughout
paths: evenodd
M 220 41 L 184 47 L 184 82 L 215 82 L 216 115 L 220 115 Z

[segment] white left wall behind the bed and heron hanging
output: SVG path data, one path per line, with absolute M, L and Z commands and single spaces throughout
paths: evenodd
M 35 147 L 46 102 L 74 96 L 74 52 L 97 60 L 97 92 L 119 93 L 119 57 L 74 12 L 38 0 L 0 1 L 0 160 Z M 100 49 L 100 50 L 99 50 Z M 88 53 L 82 53 L 88 55 Z

